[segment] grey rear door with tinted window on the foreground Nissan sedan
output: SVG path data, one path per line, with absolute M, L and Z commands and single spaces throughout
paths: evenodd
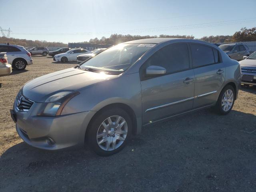
M 202 44 L 190 44 L 192 66 L 195 73 L 195 99 L 193 108 L 216 102 L 225 82 L 225 67 L 217 49 Z

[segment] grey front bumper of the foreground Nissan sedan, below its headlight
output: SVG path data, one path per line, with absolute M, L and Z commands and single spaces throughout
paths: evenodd
M 14 103 L 14 106 L 16 104 Z M 28 112 L 16 107 L 16 130 L 27 144 L 46 150 L 58 150 L 84 144 L 85 132 L 95 112 L 87 111 L 62 116 L 37 116 L 42 103 L 34 103 Z

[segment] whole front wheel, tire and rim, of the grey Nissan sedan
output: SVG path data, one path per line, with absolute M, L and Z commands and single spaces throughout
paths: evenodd
M 117 121 L 119 123 L 116 125 Z M 111 108 L 92 119 L 86 131 L 86 142 L 96 154 L 109 156 L 122 150 L 131 134 L 132 120 L 127 112 L 121 108 Z

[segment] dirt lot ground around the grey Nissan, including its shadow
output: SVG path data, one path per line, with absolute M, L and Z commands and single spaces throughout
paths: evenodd
M 233 110 L 210 109 L 144 127 L 120 153 L 56 152 L 25 144 L 10 109 L 28 80 L 73 63 L 34 56 L 25 71 L 0 77 L 0 191 L 256 191 L 256 87 L 242 86 Z

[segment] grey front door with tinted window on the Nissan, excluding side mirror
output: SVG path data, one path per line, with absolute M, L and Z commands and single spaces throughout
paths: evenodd
M 152 65 L 166 68 L 166 74 L 146 76 L 146 68 Z M 188 44 L 170 44 L 155 52 L 140 68 L 140 77 L 143 124 L 192 109 L 194 71 Z

